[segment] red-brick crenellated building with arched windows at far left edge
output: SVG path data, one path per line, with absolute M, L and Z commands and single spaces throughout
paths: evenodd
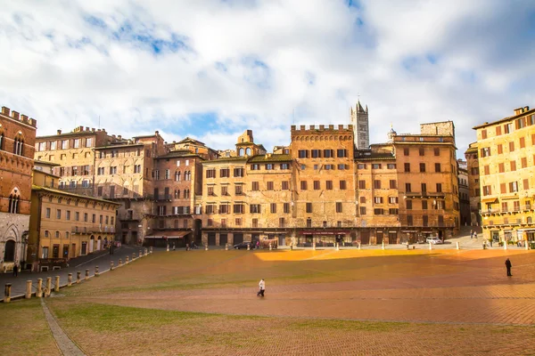
M 0 112 L 0 260 L 7 270 L 26 259 L 37 121 Z

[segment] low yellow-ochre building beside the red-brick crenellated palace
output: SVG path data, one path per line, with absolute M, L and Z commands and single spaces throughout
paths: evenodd
M 27 258 L 33 271 L 102 250 L 115 236 L 120 204 L 58 190 L 60 177 L 52 168 L 50 163 L 35 162 Z

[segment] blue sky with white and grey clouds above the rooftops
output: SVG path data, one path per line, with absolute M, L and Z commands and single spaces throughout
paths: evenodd
M 371 142 L 535 106 L 531 0 L 24 0 L 0 12 L 0 105 L 38 135 L 75 125 L 130 137 L 160 130 L 268 150 L 290 125 L 349 124 L 358 98 Z

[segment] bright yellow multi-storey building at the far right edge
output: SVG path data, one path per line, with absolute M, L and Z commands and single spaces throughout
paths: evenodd
M 535 240 L 535 109 L 473 127 L 477 132 L 483 236 Z

